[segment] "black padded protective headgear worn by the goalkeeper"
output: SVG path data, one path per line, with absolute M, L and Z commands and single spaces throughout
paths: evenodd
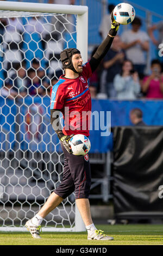
M 72 56 L 74 54 L 80 54 L 80 51 L 76 48 L 67 48 L 64 51 L 62 51 L 60 53 L 60 59 L 63 65 L 64 69 L 71 69 L 73 70 L 75 73 L 78 73 L 75 69 L 74 66 L 72 64 Z M 66 64 L 65 64 L 66 63 Z

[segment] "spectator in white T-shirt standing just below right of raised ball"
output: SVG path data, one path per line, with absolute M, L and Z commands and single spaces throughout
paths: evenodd
M 135 17 L 131 23 L 132 29 L 123 32 L 121 37 L 127 59 L 133 62 L 134 69 L 139 74 L 144 73 L 146 65 L 144 53 L 149 50 L 149 36 L 146 32 L 140 31 L 141 25 L 141 20 Z

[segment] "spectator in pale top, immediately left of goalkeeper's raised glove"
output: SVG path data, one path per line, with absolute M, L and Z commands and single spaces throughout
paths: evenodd
M 109 4 L 108 5 L 108 14 L 104 15 L 101 25 L 99 26 L 99 34 L 101 35 L 102 39 L 104 40 L 108 35 L 108 31 L 111 29 L 111 19 L 110 14 L 111 11 L 114 10 L 115 5 Z

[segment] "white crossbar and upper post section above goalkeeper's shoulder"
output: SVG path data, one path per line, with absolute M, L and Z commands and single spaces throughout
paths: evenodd
M 0 10 L 29 11 L 33 13 L 77 14 L 77 48 L 87 61 L 88 8 L 83 5 L 42 4 L 1 1 Z

